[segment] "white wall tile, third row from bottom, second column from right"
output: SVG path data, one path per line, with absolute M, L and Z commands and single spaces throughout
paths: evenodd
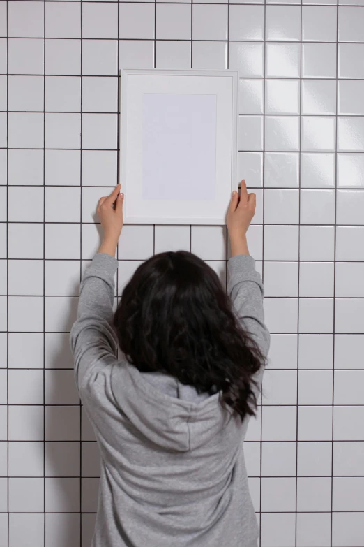
M 331 476 L 332 449 L 331 442 L 298 442 L 297 476 Z

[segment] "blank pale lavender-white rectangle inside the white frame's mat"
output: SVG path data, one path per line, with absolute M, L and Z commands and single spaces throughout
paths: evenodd
M 144 199 L 215 199 L 216 105 L 216 95 L 143 94 Z

